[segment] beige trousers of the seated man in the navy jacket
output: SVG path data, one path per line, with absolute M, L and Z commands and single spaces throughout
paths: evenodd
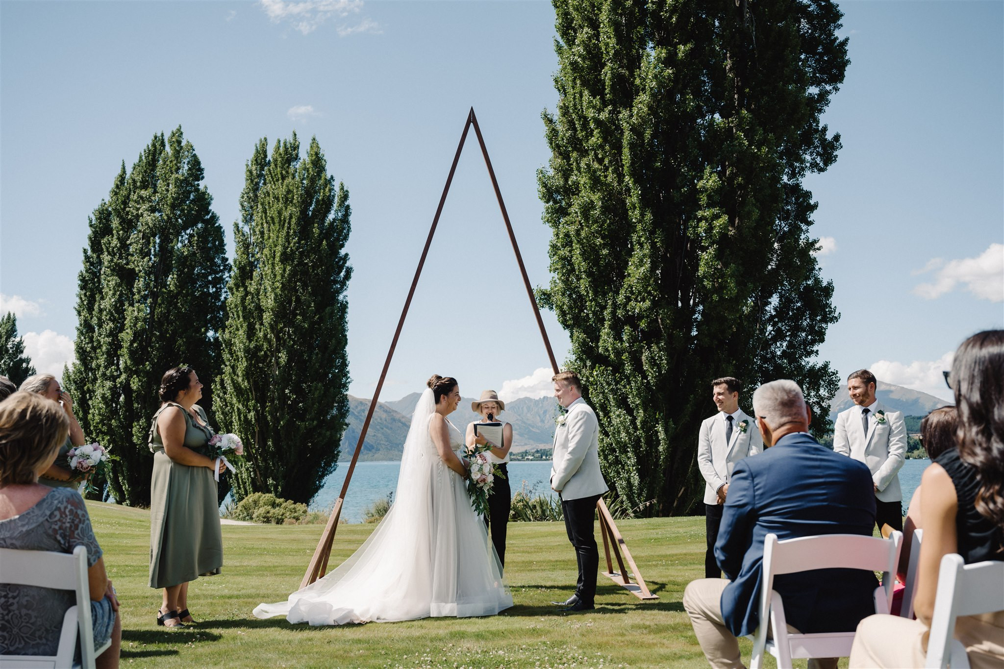
M 729 581 L 725 579 L 691 581 L 684 591 L 684 609 L 691 618 L 701 650 L 714 669 L 745 669 L 739 655 L 739 640 L 722 618 L 722 592 L 727 585 Z M 791 625 L 787 627 L 788 632 L 798 634 Z M 767 634 L 770 635 L 769 629 Z M 836 669 L 836 661 L 835 657 L 812 658 L 808 669 Z

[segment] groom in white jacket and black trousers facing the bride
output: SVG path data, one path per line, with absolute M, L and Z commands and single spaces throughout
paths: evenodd
M 554 429 L 551 488 L 561 497 L 568 541 L 575 549 L 578 583 L 565 611 L 593 608 L 599 552 L 593 534 L 593 515 L 599 495 L 608 488 L 599 472 L 599 423 L 592 407 L 582 399 L 582 384 L 574 372 L 551 377 L 554 396 L 566 409 Z

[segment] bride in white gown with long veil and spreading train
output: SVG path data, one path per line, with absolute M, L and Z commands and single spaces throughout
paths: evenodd
M 427 385 L 405 440 L 395 504 L 376 530 L 333 572 L 285 602 L 259 604 L 255 616 L 344 625 L 493 616 L 512 606 L 467 495 L 463 436 L 446 419 L 460 403 L 457 380 L 434 375 Z

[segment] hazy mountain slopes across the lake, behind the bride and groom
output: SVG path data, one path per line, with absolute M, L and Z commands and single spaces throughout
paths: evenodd
M 378 402 L 366 438 L 362 442 L 360 460 L 399 460 L 408 427 L 412 422 L 412 412 L 419 403 L 420 393 L 413 392 L 401 399 Z M 474 399 L 465 397 L 457 410 L 450 414 L 450 421 L 460 430 L 467 429 L 467 423 L 480 420 L 481 416 L 471 411 Z M 369 410 L 369 400 L 348 396 L 348 427 L 341 438 L 339 460 L 352 458 L 352 450 L 359 439 L 359 430 Z M 554 417 L 557 415 L 557 401 L 553 397 L 520 397 L 506 404 L 499 416 L 512 423 L 513 450 L 526 450 L 550 446 L 554 436 Z

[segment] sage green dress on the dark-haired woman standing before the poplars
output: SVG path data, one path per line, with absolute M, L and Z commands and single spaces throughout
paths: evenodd
M 195 405 L 195 410 L 202 424 L 174 402 L 165 402 L 154 414 L 149 437 L 150 449 L 154 451 L 150 495 L 151 588 L 170 588 L 200 576 L 213 576 L 223 566 L 223 536 L 213 471 L 168 457 L 157 427 L 157 418 L 168 406 L 177 406 L 185 415 L 186 446 L 205 454 L 204 448 L 213 436 L 206 412 L 199 405 Z

